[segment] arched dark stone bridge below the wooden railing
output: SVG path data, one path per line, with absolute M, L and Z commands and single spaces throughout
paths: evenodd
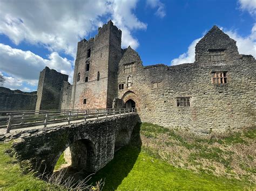
M 9 135 L 19 161 L 30 160 L 32 169 L 51 174 L 60 155 L 69 147 L 71 166 L 94 173 L 114 157 L 114 152 L 129 143 L 136 113 L 97 119 L 84 123 L 33 129 Z M 11 137 L 10 137 L 11 136 Z M 5 139 L 8 137 L 5 137 Z

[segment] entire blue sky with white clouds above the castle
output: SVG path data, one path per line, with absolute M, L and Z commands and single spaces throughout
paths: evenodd
M 36 90 L 45 66 L 72 83 L 77 42 L 109 19 L 123 31 L 122 47 L 136 49 L 144 65 L 193 62 L 194 46 L 213 25 L 256 57 L 256 0 L 2 0 L 4 87 Z

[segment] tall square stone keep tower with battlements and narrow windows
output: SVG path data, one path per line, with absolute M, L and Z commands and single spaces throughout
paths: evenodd
M 111 108 L 117 96 L 118 62 L 122 56 L 122 31 L 111 20 L 98 34 L 77 46 L 71 109 Z

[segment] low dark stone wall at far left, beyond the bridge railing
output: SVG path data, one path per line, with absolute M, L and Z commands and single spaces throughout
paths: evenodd
M 0 87 L 0 111 L 35 110 L 37 92 L 23 92 Z

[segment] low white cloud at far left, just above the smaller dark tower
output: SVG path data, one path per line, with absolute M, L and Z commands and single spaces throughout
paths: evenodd
M 37 86 L 39 72 L 45 66 L 72 77 L 70 60 L 62 58 L 57 52 L 52 52 L 48 57 L 49 59 L 43 59 L 30 51 L 0 44 L 0 70 L 9 75 L 4 76 L 4 86 L 14 89 L 22 87 L 24 82 L 30 86 Z

